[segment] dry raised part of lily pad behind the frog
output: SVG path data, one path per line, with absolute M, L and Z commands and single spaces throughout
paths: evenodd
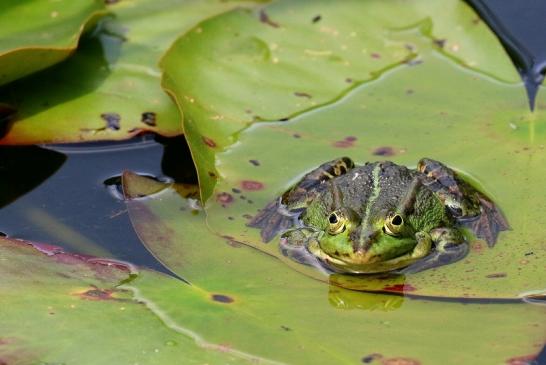
M 207 20 L 163 58 L 163 85 L 184 112 L 203 199 L 215 154 L 256 121 L 327 105 L 401 64 L 420 62 L 403 38 L 419 27 L 461 66 L 504 81 L 519 76 L 495 36 L 462 1 L 278 1 Z

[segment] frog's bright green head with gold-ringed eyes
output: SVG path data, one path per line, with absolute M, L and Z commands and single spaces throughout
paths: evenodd
M 305 212 L 305 245 L 309 252 L 336 271 L 373 273 L 407 266 L 404 255 L 417 244 L 416 232 L 430 229 L 444 217 L 444 207 L 418 183 L 393 195 L 379 190 L 365 206 L 331 208 L 317 200 Z M 325 203 L 326 202 L 326 203 Z M 311 229 L 309 227 L 312 227 Z M 302 235 L 287 232 L 285 237 Z

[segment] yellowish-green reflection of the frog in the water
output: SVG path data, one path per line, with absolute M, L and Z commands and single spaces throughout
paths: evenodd
M 331 275 L 330 278 L 339 276 Z M 369 293 L 345 289 L 335 285 L 336 280 L 330 280 L 328 302 L 337 309 L 361 309 L 367 311 L 394 311 L 402 307 L 405 298 L 396 294 Z

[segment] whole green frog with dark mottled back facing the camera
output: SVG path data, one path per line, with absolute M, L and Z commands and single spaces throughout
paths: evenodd
M 282 252 L 330 272 L 414 273 L 468 253 L 462 228 L 493 246 L 508 223 L 495 204 L 439 161 L 416 169 L 390 161 L 326 162 L 247 224 L 264 242 L 282 233 Z M 311 260 L 311 261 L 312 261 Z

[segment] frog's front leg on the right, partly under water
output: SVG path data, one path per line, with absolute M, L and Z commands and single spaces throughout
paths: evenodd
M 399 270 L 398 272 L 401 274 L 412 274 L 447 265 L 459 261 L 468 253 L 468 243 L 457 229 L 436 228 L 430 234 L 418 232 L 415 236 L 417 246 L 415 246 L 412 257 L 423 257 L 423 259 Z M 431 245 L 434 246 L 432 252 L 430 251 Z M 427 253 L 429 254 L 427 255 Z

